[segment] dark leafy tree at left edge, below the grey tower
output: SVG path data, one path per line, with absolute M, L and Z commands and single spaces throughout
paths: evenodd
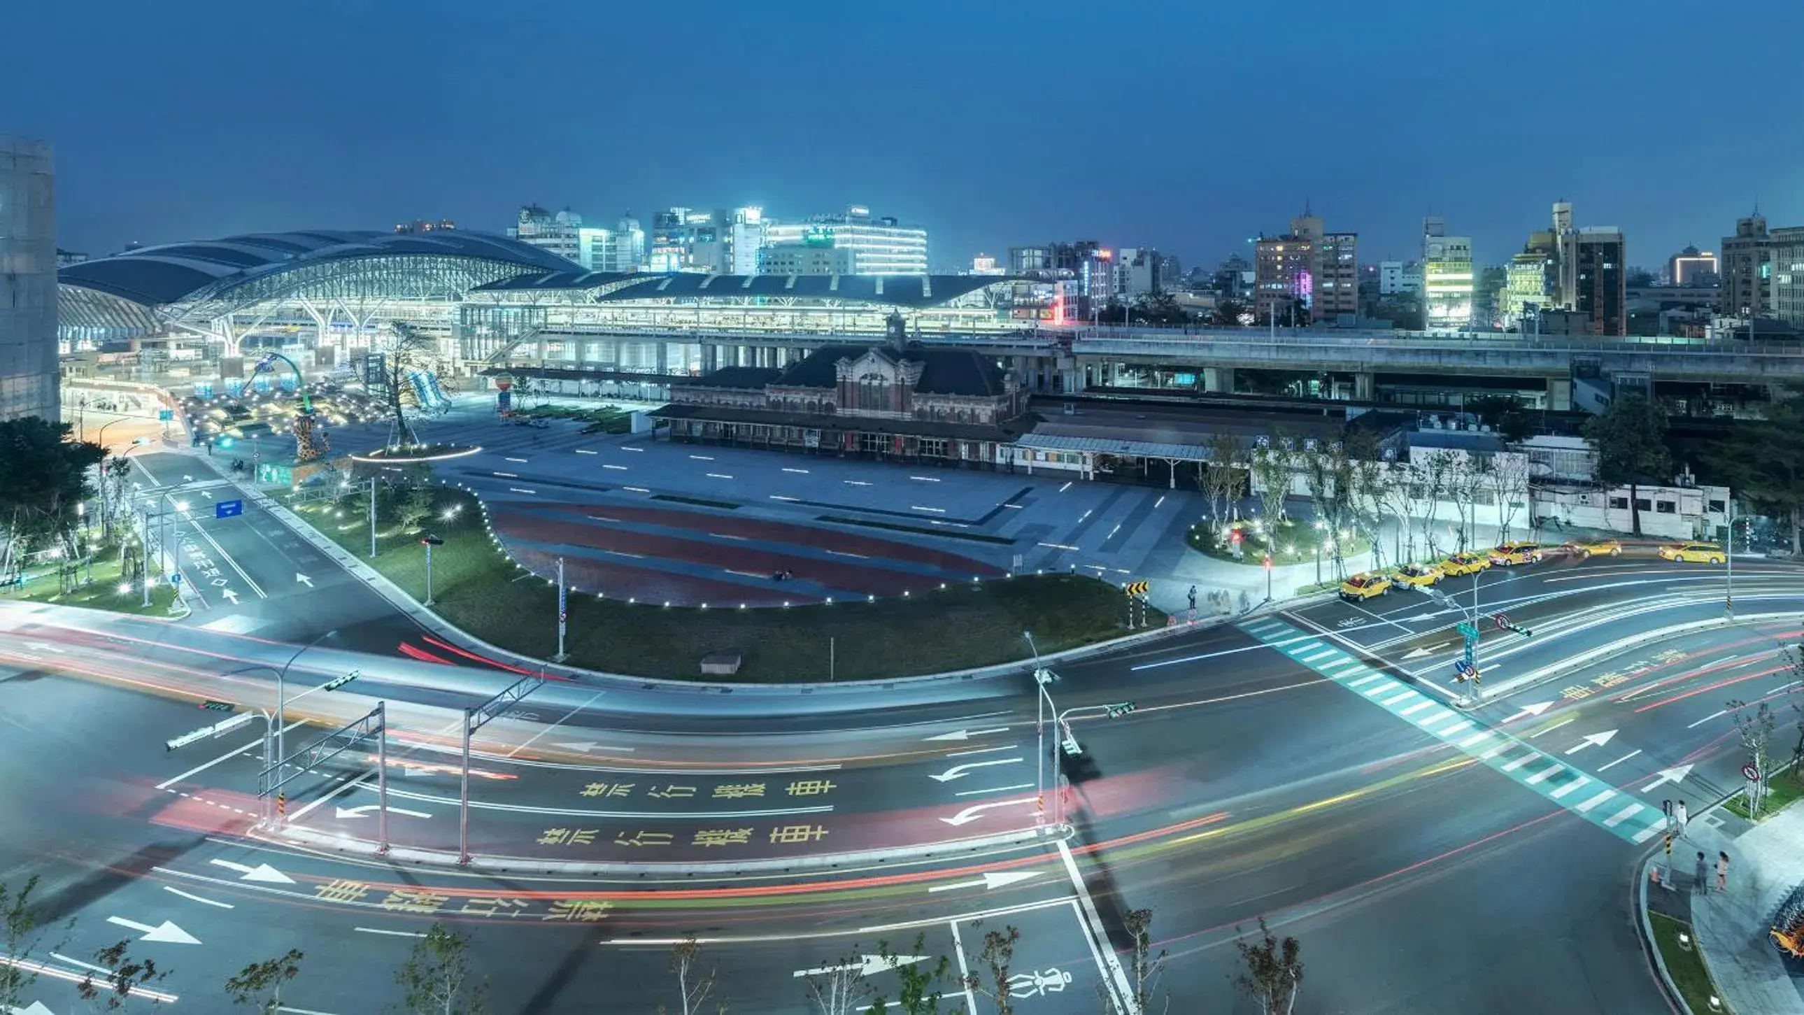
M 0 422 L 0 575 L 32 550 L 74 546 L 76 505 L 94 496 L 88 469 L 106 451 L 69 431 L 38 416 Z

